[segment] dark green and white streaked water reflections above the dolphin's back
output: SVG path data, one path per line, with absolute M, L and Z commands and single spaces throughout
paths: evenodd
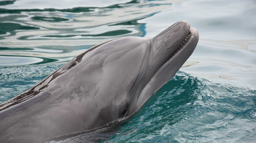
M 105 7 L 101 7 L 104 5 L 101 4 L 99 7 L 76 8 L 65 8 L 66 4 L 63 6 L 64 9 L 59 9 L 59 6 L 55 9 L 54 5 L 53 8 L 38 8 L 41 2 L 36 5 L 31 1 L 32 8 L 24 8 L 28 2 L 23 0 L 2 1 L 0 47 L 8 50 L 2 49 L 0 55 L 48 57 L 53 59 L 48 60 L 51 62 L 67 62 L 85 49 L 107 40 L 124 36 L 143 37 L 146 33 L 145 24 L 137 23 L 137 20 L 170 8 L 171 2 L 133 0 L 121 4 L 110 2 L 113 5 Z M 78 3 L 87 6 L 85 1 L 78 1 L 76 4 Z M 63 52 L 55 52 L 59 50 Z M 31 61 L 38 62 L 32 58 Z M 17 63 L 2 61 L 1 64 Z

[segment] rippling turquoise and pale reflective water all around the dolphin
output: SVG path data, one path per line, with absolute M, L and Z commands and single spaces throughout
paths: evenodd
M 0 1 L 0 103 L 101 42 L 186 20 L 200 40 L 131 119 L 64 142 L 255 142 L 254 0 Z

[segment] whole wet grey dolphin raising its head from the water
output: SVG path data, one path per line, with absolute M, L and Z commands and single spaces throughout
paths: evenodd
M 171 80 L 198 40 L 197 30 L 180 21 L 154 38 L 92 47 L 0 104 L 0 142 L 43 142 L 129 119 Z

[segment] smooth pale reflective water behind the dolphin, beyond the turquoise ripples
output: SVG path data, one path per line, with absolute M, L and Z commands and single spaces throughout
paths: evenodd
M 183 71 L 238 86 L 256 83 L 253 0 L 56 2 L 61 4 L 53 2 L 50 8 L 43 1 L 1 1 L 1 65 L 67 62 L 104 41 L 154 37 L 186 20 L 199 31 L 200 40 Z

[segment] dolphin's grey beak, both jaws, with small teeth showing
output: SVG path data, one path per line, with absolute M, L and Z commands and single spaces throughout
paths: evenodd
M 136 113 L 145 102 L 163 87 L 191 56 L 199 40 L 196 29 L 179 21 L 150 39 L 149 68 L 146 85 L 135 98 L 128 116 Z

